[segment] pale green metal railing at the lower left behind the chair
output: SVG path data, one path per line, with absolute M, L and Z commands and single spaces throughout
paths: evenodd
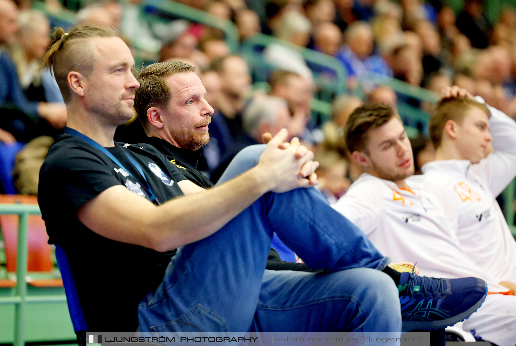
M 16 287 L 13 296 L 0 297 L 0 305 L 14 305 L 14 342 L 13 346 L 25 345 L 26 305 L 31 303 L 63 303 L 66 295 L 27 295 L 27 230 L 29 215 L 40 215 L 37 205 L 2 204 L 0 214 L 19 215 L 18 246 L 16 265 Z

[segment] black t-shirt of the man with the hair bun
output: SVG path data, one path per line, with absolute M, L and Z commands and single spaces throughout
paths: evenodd
M 88 330 L 133 332 L 139 302 L 163 280 L 175 251 L 158 253 L 104 238 L 78 220 L 77 209 L 114 185 L 150 200 L 141 186 L 144 180 L 125 153 L 141 166 L 160 203 L 183 195 L 177 182 L 186 178 L 148 144 L 116 143 L 106 149 L 136 179 L 100 150 L 65 134 L 57 137 L 41 167 L 38 202 L 49 243 L 59 244 L 72 266 Z

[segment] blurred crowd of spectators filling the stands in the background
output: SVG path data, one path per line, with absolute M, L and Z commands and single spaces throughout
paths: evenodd
M 214 181 L 240 149 L 260 143 L 264 132 L 286 127 L 316 152 L 318 188 L 335 201 L 361 174 L 342 138 L 349 114 L 363 103 L 396 108 L 404 98 L 388 86 L 367 83 L 369 73 L 434 92 L 455 84 L 516 118 L 516 11 L 511 7 L 502 7 L 491 23 L 482 0 L 465 0 L 458 13 L 437 0 L 180 2 L 232 21 L 240 42 L 259 33 L 289 42 L 269 44 L 262 52 L 263 61 L 272 67 L 268 87 L 253 88 L 249 61 L 231 51 L 220 29 L 184 19 L 150 22 L 142 15 L 141 0 L 80 2 L 75 18 L 79 24 L 117 28 L 135 56 L 145 61 L 173 59 L 196 67 L 215 109 L 211 140 L 201 149 L 199 168 Z M 57 0 L 45 4 L 49 11 L 69 5 Z M 29 143 L 14 167 L 16 187 L 24 194 L 37 193 L 45 150 L 66 122 L 57 84 L 50 71 L 38 70 L 52 23 L 31 5 L 30 0 L 0 0 L 0 141 L 2 150 Z M 312 116 L 321 71 L 314 71 L 296 46 L 333 56 L 347 71 L 347 93 L 334 95 L 330 121 L 321 123 Z M 353 96 L 358 88 L 365 91 L 364 97 Z M 427 113 L 432 107 L 404 101 Z M 138 143 L 144 136 L 138 121 L 119 130 L 116 140 L 127 143 Z M 421 167 L 432 160 L 433 148 L 424 131 L 412 140 L 416 166 Z

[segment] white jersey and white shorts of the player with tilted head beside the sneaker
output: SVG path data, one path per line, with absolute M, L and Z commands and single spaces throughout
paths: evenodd
M 364 173 L 332 207 L 362 229 L 393 262 L 417 262 L 420 275 L 476 276 L 486 280 L 490 292 L 506 292 L 464 253 L 440 201 L 421 190 L 421 179 L 410 177 L 410 190 L 401 190 L 391 181 Z M 514 323 L 516 296 L 490 294 L 462 327 L 483 340 L 514 346 Z

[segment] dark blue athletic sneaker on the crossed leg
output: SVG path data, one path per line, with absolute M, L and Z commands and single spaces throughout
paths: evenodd
M 476 277 L 434 279 L 401 273 L 398 285 L 402 331 L 454 325 L 475 312 L 487 296 L 487 284 Z

